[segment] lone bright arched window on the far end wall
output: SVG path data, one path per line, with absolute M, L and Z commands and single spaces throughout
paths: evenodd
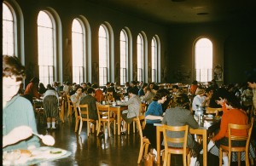
M 200 82 L 212 80 L 212 42 L 207 38 L 195 43 L 195 78 Z

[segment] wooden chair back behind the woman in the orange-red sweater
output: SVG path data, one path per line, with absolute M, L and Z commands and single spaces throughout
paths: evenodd
M 236 135 L 232 135 L 231 131 L 233 129 L 239 129 L 239 130 L 247 130 L 247 135 L 244 136 L 236 136 Z M 252 118 L 252 122 L 246 125 L 240 125 L 240 124 L 232 124 L 229 123 L 229 128 L 228 128 L 228 132 L 229 132 L 229 151 L 231 152 L 231 140 L 246 140 L 246 149 L 248 149 L 249 147 L 249 143 L 250 143 L 250 139 L 251 139 L 251 135 L 252 135 L 252 129 L 253 129 L 253 118 Z

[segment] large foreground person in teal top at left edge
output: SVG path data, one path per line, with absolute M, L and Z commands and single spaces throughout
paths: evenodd
M 3 151 L 40 146 L 32 104 L 18 93 L 25 67 L 15 56 L 3 55 Z M 32 135 L 32 136 L 31 136 Z

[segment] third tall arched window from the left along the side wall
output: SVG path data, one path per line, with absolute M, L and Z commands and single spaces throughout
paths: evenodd
M 84 81 L 84 32 L 81 21 L 73 20 L 72 25 L 72 55 L 73 55 L 73 83 Z

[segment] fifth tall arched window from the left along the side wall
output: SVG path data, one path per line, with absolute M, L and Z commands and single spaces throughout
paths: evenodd
M 120 84 L 126 82 L 126 70 L 128 59 L 128 37 L 125 30 L 120 32 Z

